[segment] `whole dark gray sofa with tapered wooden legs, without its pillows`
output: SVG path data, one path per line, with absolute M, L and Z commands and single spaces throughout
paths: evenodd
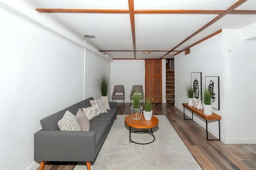
M 34 134 L 34 160 L 41 161 L 40 170 L 46 161 L 86 162 L 88 170 L 102 147 L 117 115 L 117 103 L 109 102 L 110 110 L 90 120 L 90 131 L 60 131 L 58 121 L 66 111 L 76 115 L 79 108 L 90 107 L 92 97 L 80 101 L 40 121 L 42 129 Z

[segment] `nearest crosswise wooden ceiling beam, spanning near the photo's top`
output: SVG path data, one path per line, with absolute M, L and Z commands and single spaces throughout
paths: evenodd
M 36 8 L 46 13 L 129 14 L 130 10 Z M 223 14 L 225 10 L 134 10 L 134 14 Z M 256 14 L 256 10 L 232 10 L 229 14 Z

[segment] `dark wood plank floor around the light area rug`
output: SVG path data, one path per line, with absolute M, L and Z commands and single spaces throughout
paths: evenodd
M 118 115 L 129 114 L 130 103 L 126 103 L 125 108 L 123 103 L 118 103 Z M 166 115 L 202 169 L 256 169 L 256 144 L 224 144 L 219 140 L 206 140 L 206 130 L 192 120 L 183 120 L 183 113 L 173 103 L 157 104 L 153 114 Z M 44 170 L 72 170 L 75 164 L 46 162 Z

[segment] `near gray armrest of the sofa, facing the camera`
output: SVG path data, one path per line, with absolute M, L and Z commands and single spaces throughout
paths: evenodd
M 95 132 L 39 130 L 34 134 L 35 161 L 93 161 L 95 157 Z

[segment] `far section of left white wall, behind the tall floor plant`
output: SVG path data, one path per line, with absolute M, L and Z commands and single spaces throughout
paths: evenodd
M 90 51 L 85 53 L 85 99 L 94 97 L 100 99 L 101 93 L 97 87 L 97 78 L 100 74 L 106 74 L 110 77 L 110 61 L 98 57 Z M 111 77 L 110 77 L 111 81 Z M 108 92 L 108 99 L 111 99 L 112 93 Z

